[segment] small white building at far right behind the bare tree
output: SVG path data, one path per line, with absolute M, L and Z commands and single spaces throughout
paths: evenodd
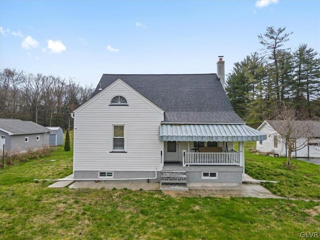
M 257 141 L 256 149 L 261 152 L 270 152 L 279 156 L 286 156 L 285 140 L 279 132 L 282 132 L 281 120 L 265 120 L 257 130 L 265 133 L 265 141 Z M 320 157 L 320 121 L 294 121 L 292 123 L 294 131 L 299 133 L 294 135 L 297 151 L 292 152 L 291 157 Z M 301 129 L 305 129 L 302 130 Z M 302 146 L 302 147 L 299 147 Z

